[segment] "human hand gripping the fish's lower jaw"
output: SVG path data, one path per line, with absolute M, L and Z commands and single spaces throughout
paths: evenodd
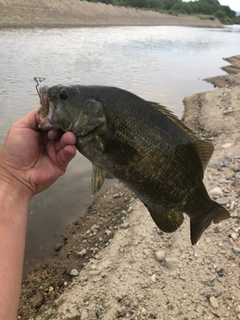
M 36 115 L 33 111 L 14 123 L 0 150 L 0 180 L 30 198 L 63 175 L 76 154 L 73 133 L 38 131 Z

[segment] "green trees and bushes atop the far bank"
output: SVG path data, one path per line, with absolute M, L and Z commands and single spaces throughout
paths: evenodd
M 166 12 L 173 15 L 200 15 L 201 19 L 214 20 L 218 18 L 223 24 L 240 24 L 240 16 L 229 6 L 222 6 L 218 0 L 196 0 L 184 2 L 182 0 L 88 0 L 103 2 L 114 6 L 135 7 Z M 204 17 L 205 16 L 205 17 Z

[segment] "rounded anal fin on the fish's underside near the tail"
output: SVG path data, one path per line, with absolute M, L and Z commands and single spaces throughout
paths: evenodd
M 174 232 L 183 223 L 184 217 L 182 212 L 158 207 L 151 208 L 148 205 L 146 207 L 158 228 L 164 232 Z

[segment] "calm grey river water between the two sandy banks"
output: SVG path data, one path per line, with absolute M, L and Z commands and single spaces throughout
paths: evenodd
M 183 98 L 212 90 L 202 79 L 224 74 L 222 58 L 240 54 L 239 37 L 240 26 L 0 30 L 0 147 L 11 123 L 39 106 L 34 77 L 49 86 L 118 86 L 181 117 Z M 64 177 L 34 197 L 26 270 L 49 257 L 66 226 L 84 215 L 93 200 L 90 180 L 91 164 L 78 154 Z

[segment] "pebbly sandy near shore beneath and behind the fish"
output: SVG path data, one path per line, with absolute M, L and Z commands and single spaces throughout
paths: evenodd
M 192 246 L 187 217 L 165 234 L 118 184 L 27 276 L 18 319 L 240 319 L 240 56 L 226 60 L 213 91 L 184 99 L 184 121 L 215 145 L 205 185 L 231 218 Z

